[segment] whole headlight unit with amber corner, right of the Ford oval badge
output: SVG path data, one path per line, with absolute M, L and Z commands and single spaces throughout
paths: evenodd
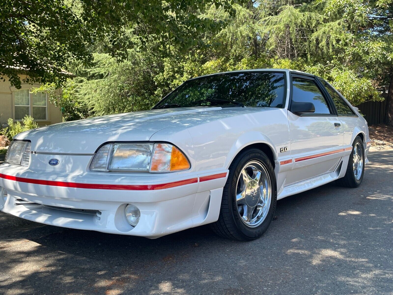
M 177 147 L 153 142 L 105 144 L 90 164 L 92 171 L 171 172 L 189 168 L 187 157 Z

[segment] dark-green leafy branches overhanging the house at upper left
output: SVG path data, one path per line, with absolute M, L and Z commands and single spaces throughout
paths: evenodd
M 64 70 L 73 60 L 91 63 L 92 48 L 101 41 L 118 60 L 127 58 L 134 44 L 131 30 L 142 44 L 158 40 L 165 51 L 168 40 L 184 49 L 196 44 L 195 32 L 216 30 L 222 22 L 198 18 L 207 4 L 232 12 L 226 0 L 3 0 L 0 3 L 0 78 L 20 87 L 18 74 L 28 71 L 28 83 L 67 79 Z

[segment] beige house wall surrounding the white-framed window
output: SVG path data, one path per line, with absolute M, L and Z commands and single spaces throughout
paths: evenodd
M 26 76 L 21 75 L 20 78 L 23 79 Z M 39 87 L 38 84 L 28 84 L 22 82 L 22 89 L 31 88 L 31 87 Z M 0 81 L 0 125 L 7 122 L 8 118 L 13 118 L 14 116 L 14 98 L 12 91 L 15 90 L 15 87 L 11 86 L 11 83 L 6 81 Z M 58 107 L 55 107 L 52 103 L 49 102 L 49 98 L 47 101 L 48 105 L 48 118 L 47 120 L 37 120 L 37 124 L 40 126 L 51 125 L 61 122 L 61 111 Z

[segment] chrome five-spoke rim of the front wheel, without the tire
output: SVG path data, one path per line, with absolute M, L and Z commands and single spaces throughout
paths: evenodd
M 251 161 L 237 179 L 236 205 L 242 222 L 257 227 L 266 218 L 272 199 L 270 176 L 263 164 Z

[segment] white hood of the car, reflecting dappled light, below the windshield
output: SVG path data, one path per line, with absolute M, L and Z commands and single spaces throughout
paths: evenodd
M 94 117 L 49 125 L 15 136 L 31 141 L 31 151 L 93 154 L 104 142 L 148 141 L 157 131 L 173 124 L 181 128 L 263 108 L 190 107 L 159 109 Z

